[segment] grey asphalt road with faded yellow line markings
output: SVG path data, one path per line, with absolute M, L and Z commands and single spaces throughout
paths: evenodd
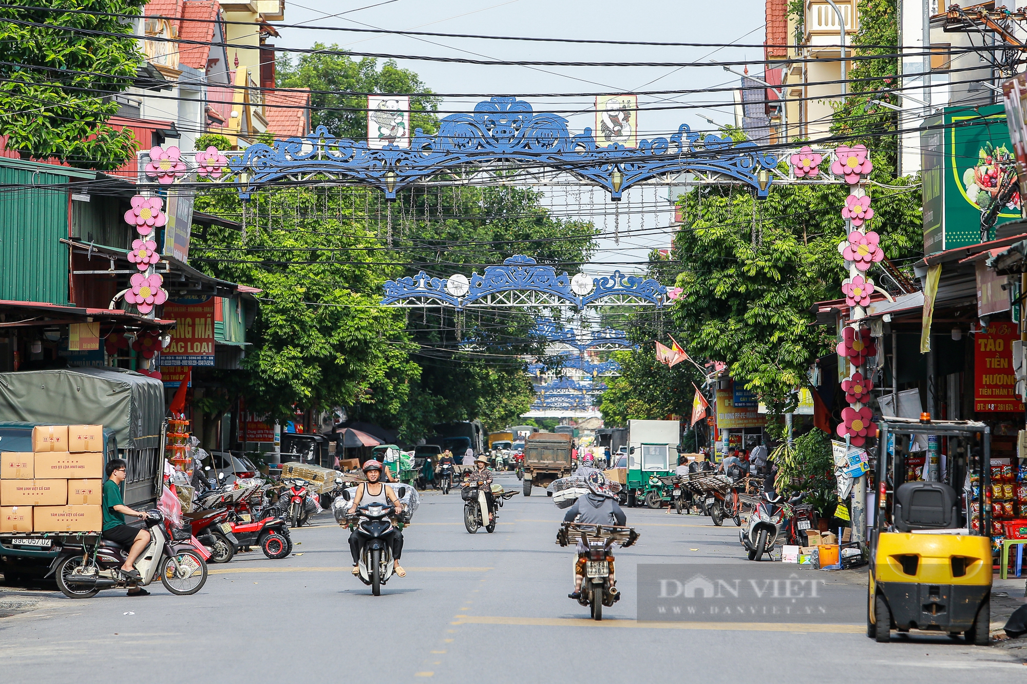
M 519 489 L 512 476 L 498 481 Z M 0 681 L 771 677 L 790 684 L 962 684 L 969 677 L 989 683 L 1027 677 L 1023 651 L 972 647 L 947 637 L 896 636 L 887 645 L 868 639 L 866 584 L 854 571 L 787 569 L 793 579 L 819 580 L 816 603 L 826 618 L 793 618 L 785 611 L 638 622 L 639 592 L 657 591 L 651 582 L 638 585 L 640 565 L 663 564 L 658 570 L 674 576 L 705 569 L 715 578 L 740 577 L 764 590 L 786 570 L 781 563 L 745 560 L 730 523 L 717 528 L 709 518 L 662 510 L 627 510 L 629 524 L 642 537 L 616 552 L 623 598 L 595 622 L 586 608 L 567 598 L 572 552 L 555 543 L 563 511 L 551 499 L 537 490 L 528 499 L 514 497 L 500 509 L 493 534 L 467 534 L 461 515 L 459 495 L 426 493 L 405 535 L 408 575 L 393 577 L 378 598 L 349 574 L 346 533 L 329 514 L 294 532 L 294 556 L 270 561 L 260 552 L 237 555 L 212 566 L 206 585 L 192 597 L 173 596 L 159 582 L 146 598 L 106 592 L 84 601 L 8 587 L 0 593 L 0 615 L 4 606 L 15 614 L 0 618 Z

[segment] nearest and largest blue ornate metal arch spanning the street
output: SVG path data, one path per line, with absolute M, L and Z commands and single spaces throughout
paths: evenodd
M 472 114 L 443 118 L 438 136 L 418 128 L 410 149 L 372 149 L 366 141 L 335 138 L 318 126 L 311 136 L 276 140 L 273 147 L 251 145 L 228 166 L 244 175 L 239 190 L 244 199 L 256 186 L 317 174 L 373 185 L 395 199 L 398 190 L 457 168 L 520 163 L 566 172 L 603 187 L 618 201 L 637 183 L 683 172 L 722 174 L 752 186 L 762 198 L 770 182 L 760 187 L 757 174 L 777 165 L 777 158 L 755 143 L 712 134 L 700 140 L 684 123 L 670 138 L 643 140 L 636 149 L 599 147 L 591 128 L 572 136 L 567 123 L 556 114 L 536 114 L 523 100 L 491 98 L 476 105 Z

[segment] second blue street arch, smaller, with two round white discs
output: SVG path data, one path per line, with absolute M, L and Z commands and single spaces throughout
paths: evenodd
M 451 280 L 453 280 L 451 282 Z M 587 279 L 584 281 L 587 283 Z M 466 283 L 453 278 L 416 276 L 386 280 L 382 304 L 397 306 L 561 306 L 583 308 L 589 304 L 634 304 L 662 306 L 667 287 L 653 278 L 625 275 L 593 277 L 591 288 L 578 295 L 567 272 L 557 274 L 551 266 L 539 265 L 531 257 L 509 257 L 501 266 L 486 266 L 485 273 L 471 274 Z

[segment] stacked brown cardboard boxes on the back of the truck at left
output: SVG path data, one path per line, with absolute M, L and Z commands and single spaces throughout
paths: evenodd
M 102 425 L 44 425 L 32 452 L 0 453 L 0 532 L 99 531 L 103 445 Z

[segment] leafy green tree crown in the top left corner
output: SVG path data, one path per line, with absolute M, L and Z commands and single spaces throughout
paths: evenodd
M 106 123 L 118 111 L 111 96 L 131 85 L 143 55 L 132 24 L 116 14 L 139 14 L 146 0 L 35 4 L 76 11 L 0 8 L 0 136 L 9 136 L 9 149 L 37 158 L 55 156 L 73 166 L 117 168 L 138 148 L 130 130 Z M 115 15 L 91 14 L 90 9 Z

